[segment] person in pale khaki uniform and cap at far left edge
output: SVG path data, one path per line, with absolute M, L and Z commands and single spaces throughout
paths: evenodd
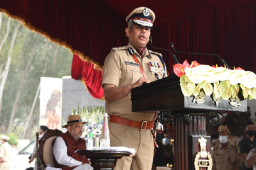
M 10 137 L 1 135 L 1 147 L 0 147 L 0 169 L 9 170 L 12 147 L 9 145 L 8 141 Z

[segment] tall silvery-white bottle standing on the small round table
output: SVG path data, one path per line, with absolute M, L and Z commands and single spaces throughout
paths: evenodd
M 108 127 L 107 113 L 104 113 L 100 147 L 102 147 L 101 149 L 110 149 L 110 130 Z

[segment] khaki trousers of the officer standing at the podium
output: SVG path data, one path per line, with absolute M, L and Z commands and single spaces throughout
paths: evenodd
M 151 170 L 154 157 L 154 140 L 150 130 L 139 130 L 117 123 L 110 126 L 110 146 L 135 148 L 136 153 L 117 159 L 114 170 Z

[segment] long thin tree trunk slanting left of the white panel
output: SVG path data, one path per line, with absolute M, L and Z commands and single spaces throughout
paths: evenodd
M 7 129 L 7 134 L 9 134 L 9 132 L 11 132 L 11 128 L 12 128 L 12 125 L 14 123 L 16 108 L 18 106 L 18 100 L 19 100 L 19 97 L 21 96 L 21 90 L 23 88 L 23 84 L 24 84 L 24 81 L 26 79 L 26 74 L 28 73 L 28 69 L 31 67 L 31 62 L 32 62 L 32 59 L 33 59 L 33 55 L 36 52 L 37 44 L 38 44 L 38 42 L 36 42 L 35 45 L 33 46 L 33 49 L 32 49 L 32 52 L 31 52 L 31 57 L 28 59 L 28 62 L 26 64 L 26 69 L 25 69 L 25 71 L 23 73 L 23 77 L 21 79 L 21 84 L 18 87 L 18 93 L 16 95 L 16 98 L 15 98 L 15 101 L 14 101 L 14 106 L 13 106 L 13 109 L 11 111 L 11 118 L 10 118 L 10 121 L 9 121 L 9 126 L 8 126 L 8 129 Z

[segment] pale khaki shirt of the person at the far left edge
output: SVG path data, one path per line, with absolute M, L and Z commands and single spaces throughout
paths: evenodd
M 4 142 L 0 147 L 0 157 L 3 158 L 2 163 L 0 163 L 1 170 L 8 170 L 10 168 L 12 147 L 8 142 Z

